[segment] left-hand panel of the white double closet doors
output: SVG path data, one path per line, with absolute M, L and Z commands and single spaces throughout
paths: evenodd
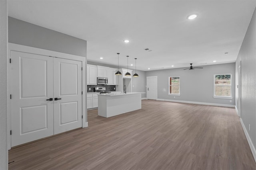
M 53 58 L 10 52 L 11 146 L 53 135 Z

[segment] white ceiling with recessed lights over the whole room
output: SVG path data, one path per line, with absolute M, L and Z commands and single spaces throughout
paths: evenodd
M 256 0 L 9 0 L 8 4 L 13 18 L 86 40 L 88 61 L 117 65 L 119 52 L 121 67 L 127 67 L 129 55 L 129 68 L 135 69 L 138 58 L 137 69 L 144 71 L 235 62 L 255 7 Z M 187 20 L 192 13 L 198 18 Z

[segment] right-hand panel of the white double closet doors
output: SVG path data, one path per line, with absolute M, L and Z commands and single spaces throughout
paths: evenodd
M 82 127 L 82 62 L 54 58 L 54 134 Z

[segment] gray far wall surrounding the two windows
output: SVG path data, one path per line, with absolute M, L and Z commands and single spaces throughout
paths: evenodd
M 189 65 L 188 65 L 189 66 Z M 194 70 L 172 68 L 147 71 L 146 76 L 157 76 L 157 98 L 165 100 L 182 100 L 211 104 L 235 105 L 235 63 L 202 66 Z M 232 74 L 233 99 L 216 99 L 214 96 L 214 74 Z M 180 76 L 180 96 L 168 95 L 168 77 Z M 230 102 L 232 100 L 232 102 Z

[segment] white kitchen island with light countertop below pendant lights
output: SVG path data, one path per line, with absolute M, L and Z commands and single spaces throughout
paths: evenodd
M 98 115 L 112 117 L 141 109 L 141 94 L 144 92 L 98 94 Z

